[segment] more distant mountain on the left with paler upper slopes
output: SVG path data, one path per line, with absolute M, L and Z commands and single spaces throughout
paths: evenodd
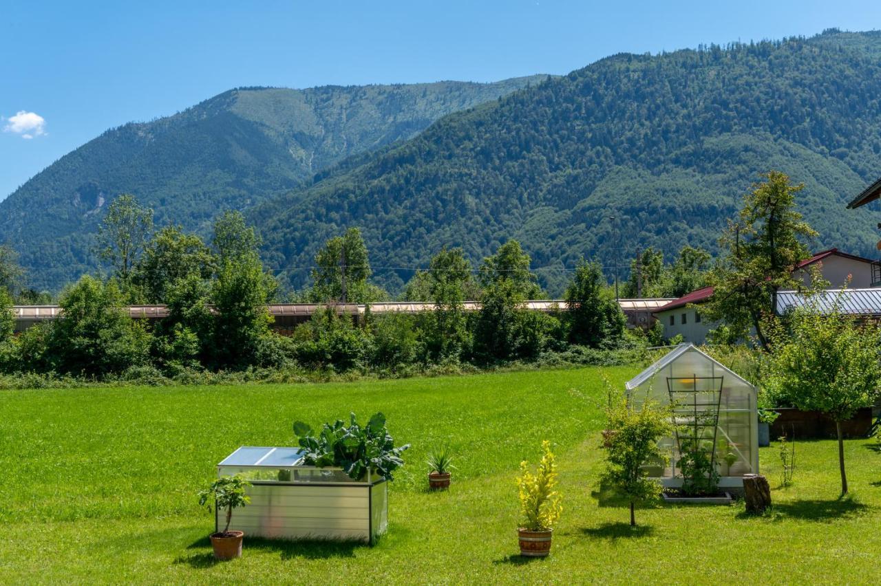
M 19 250 L 34 285 L 56 289 L 94 269 L 93 233 L 118 194 L 155 209 L 159 225 L 204 233 L 223 209 L 284 194 L 346 157 L 545 77 L 224 92 L 108 130 L 48 166 L 0 202 L 0 244 Z

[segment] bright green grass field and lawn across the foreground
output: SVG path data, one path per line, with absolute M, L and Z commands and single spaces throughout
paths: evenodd
M 0 583 L 34 582 L 850 582 L 877 583 L 881 454 L 846 450 L 852 496 L 838 498 L 835 443 L 796 445 L 795 484 L 774 512 L 595 498 L 604 373 L 550 370 L 389 382 L 0 392 Z M 243 444 L 290 445 L 291 423 L 375 411 L 406 452 L 392 483 L 389 533 L 373 547 L 245 540 L 216 563 L 213 519 L 197 487 Z M 517 555 L 515 474 L 555 444 L 563 516 L 546 560 Z M 426 492 L 426 449 L 449 439 L 454 485 Z

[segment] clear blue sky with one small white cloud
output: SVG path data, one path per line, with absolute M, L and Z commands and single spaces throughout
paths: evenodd
M 881 3 L 5 0 L 0 199 L 107 128 L 235 86 L 493 81 L 831 26 L 881 28 Z

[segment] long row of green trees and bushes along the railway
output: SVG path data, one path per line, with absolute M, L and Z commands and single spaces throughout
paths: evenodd
M 109 206 L 98 243 L 110 273 L 86 275 L 65 289 L 62 319 L 13 336 L 11 286 L 0 288 L 0 369 L 85 377 L 289 365 L 400 369 L 534 360 L 572 346 L 618 348 L 626 341 L 626 320 L 596 263 L 582 261 L 574 271 L 567 308 L 527 311 L 524 302 L 541 290 L 515 240 L 477 269 L 461 248 L 443 248 L 407 288 L 433 311 L 368 311 L 358 325 L 337 304 L 369 304 L 385 294 L 369 282 L 359 230 L 346 231 L 317 253 L 312 288 L 294 296 L 326 309 L 286 338 L 272 331 L 265 307 L 278 299 L 278 282 L 264 270 L 260 238 L 241 214 L 219 216 L 205 243 L 177 226 L 154 231 L 152 210 L 122 195 Z M 11 262 L 0 267 L 19 273 Z M 465 311 L 465 300 L 475 297 L 480 310 Z M 132 319 L 130 304 L 167 304 L 168 316 L 151 325 Z

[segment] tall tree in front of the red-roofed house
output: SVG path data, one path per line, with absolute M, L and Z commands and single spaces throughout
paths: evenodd
M 759 344 L 767 349 L 766 322 L 774 320 L 777 291 L 803 287 L 792 271 L 810 257 L 803 240 L 817 232 L 795 210 L 803 184 L 793 186 L 777 171 L 764 177 L 744 196 L 737 222 L 729 223 L 720 240 L 725 254 L 709 275 L 707 284 L 714 294 L 701 312 L 742 335 L 754 328 Z

